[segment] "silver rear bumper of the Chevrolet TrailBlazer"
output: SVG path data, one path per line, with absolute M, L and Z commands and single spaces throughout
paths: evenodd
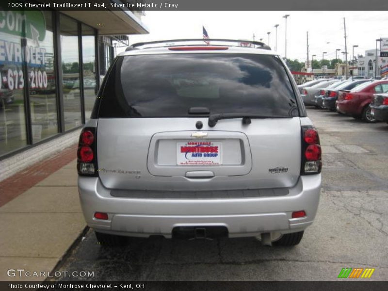
M 314 221 L 320 198 L 321 175 L 299 178 L 284 196 L 170 199 L 113 197 L 95 177 L 79 177 L 79 194 L 88 226 L 99 232 L 148 237 L 171 237 L 177 226 L 225 226 L 229 237 L 263 232 L 297 232 Z M 306 217 L 291 218 L 305 210 Z M 108 213 L 108 220 L 94 218 Z

